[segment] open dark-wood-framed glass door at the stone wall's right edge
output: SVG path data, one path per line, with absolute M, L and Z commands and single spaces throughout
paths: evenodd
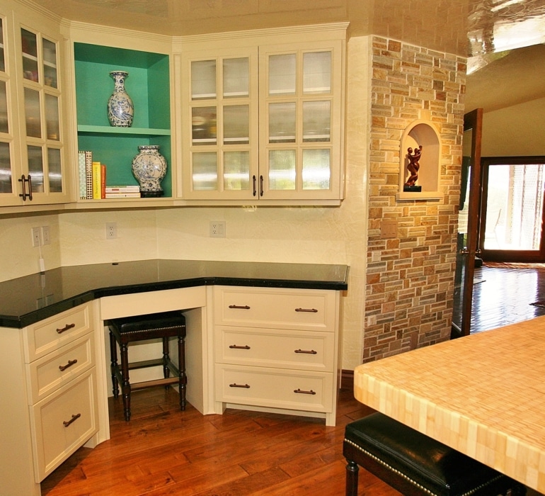
M 478 252 L 482 120 L 482 108 L 464 115 L 452 338 L 467 336 L 471 330 L 473 277 Z

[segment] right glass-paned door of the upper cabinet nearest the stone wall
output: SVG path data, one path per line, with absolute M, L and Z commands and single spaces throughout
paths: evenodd
M 339 43 L 260 48 L 260 197 L 340 198 Z

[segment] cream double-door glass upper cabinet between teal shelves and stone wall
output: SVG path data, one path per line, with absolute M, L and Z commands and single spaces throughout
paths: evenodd
M 345 25 L 184 38 L 187 200 L 338 204 Z

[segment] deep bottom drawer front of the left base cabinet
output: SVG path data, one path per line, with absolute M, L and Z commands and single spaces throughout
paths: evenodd
M 30 407 L 39 483 L 98 431 L 94 367 Z

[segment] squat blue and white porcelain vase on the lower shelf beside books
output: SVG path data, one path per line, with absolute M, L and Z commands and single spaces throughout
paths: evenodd
M 163 196 L 161 181 L 166 174 L 166 159 L 159 153 L 159 145 L 142 145 L 132 159 L 132 174 L 140 184 L 142 198 Z

